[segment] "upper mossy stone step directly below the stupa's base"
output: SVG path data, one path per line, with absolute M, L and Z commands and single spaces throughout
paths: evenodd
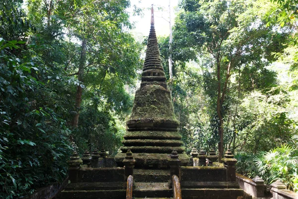
M 134 169 L 135 182 L 166 183 L 170 180 L 169 170 Z

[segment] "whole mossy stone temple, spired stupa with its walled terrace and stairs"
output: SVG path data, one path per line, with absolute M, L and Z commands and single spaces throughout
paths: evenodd
M 235 163 L 227 150 L 223 163 L 212 149 L 193 148 L 188 156 L 178 132 L 171 94 L 161 65 L 151 8 L 141 88 L 136 91 L 127 133 L 115 158 L 104 148 L 74 151 L 61 199 L 250 199 L 236 182 Z M 206 158 L 210 166 L 206 165 Z

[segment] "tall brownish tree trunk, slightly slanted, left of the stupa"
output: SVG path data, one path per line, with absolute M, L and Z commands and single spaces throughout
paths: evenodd
M 82 45 L 81 45 L 81 52 L 80 52 L 79 65 L 78 65 L 78 75 L 77 75 L 77 79 L 80 82 L 83 82 L 85 62 L 86 62 L 86 48 L 87 48 L 87 40 L 83 39 Z M 81 85 L 78 85 L 76 88 L 76 95 L 75 95 L 75 114 L 72 121 L 72 126 L 74 128 L 77 128 L 78 126 L 80 104 L 82 101 L 82 91 L 83 89 Z

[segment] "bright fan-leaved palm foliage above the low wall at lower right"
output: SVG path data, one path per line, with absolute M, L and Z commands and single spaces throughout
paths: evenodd
M 237 172 L 251 178 L 261 176 L 267 185 L 281 180 L 288 189 L 298 192 L 298 150 L 290 145 L 260 151 L 256 155 L 242 152 L 236 158 Z

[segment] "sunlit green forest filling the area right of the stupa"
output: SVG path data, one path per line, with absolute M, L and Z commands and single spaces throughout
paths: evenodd
M 174 78 L 169 82 L 188 151 L 208 151 L 222 143 L 224 150 L 237 154 L 239 173 L 259 175 L 266 183 L 280 178 L 293 190 L 295 170 L 287 177 L 274 173 L 285 164 L 278 161 L 272 171 L 258 172 L 254 160 L 285 144 L 297 150 L 296 4 L 181 0 L 173 27 Z M 165 71 L 168 40 L 159 38 Z

